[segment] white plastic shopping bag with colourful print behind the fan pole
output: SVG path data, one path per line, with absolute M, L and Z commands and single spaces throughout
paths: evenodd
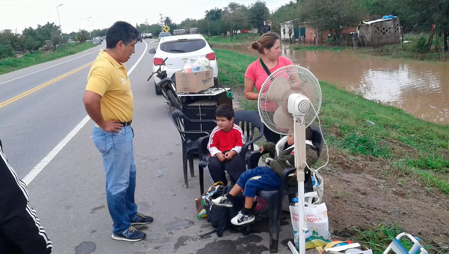
M 307 231 L 306 250 L 314 247 L 325 246 L 330 240 L 329 220 L 327 218 L 327 207 L 325 203 L 315 204 L 312 202 L 313 198 L 318 200 L 316 191 L 304 194 L 305 207 L 304 214 L 306 217 Z M 299 209 L 301 207 L 290 206 L 291 224 L 293 225 L 293 233 L 295 245 L 299 245 Z M 304 220 L 304 219 L 302 219 Z

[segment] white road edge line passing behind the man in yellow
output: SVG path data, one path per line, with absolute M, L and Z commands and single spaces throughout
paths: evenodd
M 142 55 L 139 57 L 139 59 L 137 60 L 137 62 L 132 65 L 131 69 L 128 70 L 128 76 L 129 74 L 132 73 L 132 70 L 134 70 L 134 68 L 136 68 L 137 64 L 142 60 L 142 57 L 145 55 L 146 53 L 146 49 L 148 48 L 148 44 L 143 41 L 145 43 L 145 50 L 143 51 Z M 73 137 L 75 137 L 76 133 L 79 132 L 79 130 L 81 128 L 84 127 L 84 125 L 87 124 L 87 122 L 90 120 L 90 117 L 87 115 L 83 118 L 83 120 L 81 120 L 79 122 L 79 124 L 77 124 L 75 126 L 75 128 L 73 128 L 69 134 L 67 134 L 66 137 L 64 137 L 61 142 L 59 142 L 55 148 L 53 148 L 52 151 L 50 151 L 45 157 L 44 159 L 42 159 L 33 169 L 31 169 L 31 171 L 26 174 L 25 177 L 23 177 L 22 181 L 25 182 L 26 185 L 29 185 L 31 183 L 31 181 L 33 181 L 33 179 L 45 168 L 45 166 L 48 165 L 48 163 L 50 163 L 50 161 L 52 161 L 52 159 L 62 150 L 62 148 L 64 148 L 64 146 L 66 146 L 66 144 L 70 141 L 70 139 L 72 139 Z

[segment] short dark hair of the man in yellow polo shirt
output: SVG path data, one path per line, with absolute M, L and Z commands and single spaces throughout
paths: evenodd
M 127 22 L 117 21 L 106 32 L 106 48 L 114 48 L 119 41 L 125 45 L 137 39 L 139 32 Z

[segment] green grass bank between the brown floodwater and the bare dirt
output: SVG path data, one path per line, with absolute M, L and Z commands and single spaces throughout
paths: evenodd
M 215 52 L 220 62 L 220 84 L 242 90 L 243 73 L 256 57 L 222 49 Z M 392 182 L 405 178 L 417 181 L 427 191 L 449 195 L 447 125 L 420 120 L 328 82 L 320 84 L 321 127 L 330 150 L 377 163 L 379 173 Z M 246 99 L 241 105 L 257 110 L 257 104 Z

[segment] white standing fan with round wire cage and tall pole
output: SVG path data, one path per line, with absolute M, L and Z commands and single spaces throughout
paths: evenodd
M 277 69 L 260 88 L 257 106 L 262 122 L 281 135 L 295 136 L 295 166 L 298 169 L 299 254 L 305 253 L 304 179 L 306 168 L 305 129 L 313 123 L 321 107 L 318 79 L 306 68 L 288 65 Z M 298 254 L 290 241 L 290 250 Z

